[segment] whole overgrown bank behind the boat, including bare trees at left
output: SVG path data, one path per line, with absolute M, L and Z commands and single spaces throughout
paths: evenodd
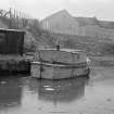
M 36 18 L 27 17 L 15 10 L 0 10 L 0 22 L 8 28 L 22 29 L 26 31 L 24 51 L 36 51 L 37 49 L 55 48 L 56 42 L 62 48 L 83 49 L 89 55 L 114 55 L 114 41 L 112 39 L 100 39 L 80 37 L 76 35 L 53 34 L 41 29 Z

